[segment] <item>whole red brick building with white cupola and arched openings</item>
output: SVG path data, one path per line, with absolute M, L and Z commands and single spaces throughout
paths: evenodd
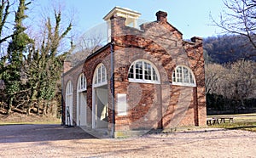
M 113 137 L 206 125 L 202 39 L 184 41 L 166 12 L 137 26 L 139 16 L 113 8 L 103 18 L 108 44 L 75 67 L 64 63 L 65 124 Z

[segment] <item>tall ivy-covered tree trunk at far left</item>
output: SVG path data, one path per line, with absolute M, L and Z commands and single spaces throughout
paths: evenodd
M 26 19 L 25 11 L 29 3 L 25 3 L 26 0 L 19 1 L 19 7 L 15 13 L 15 33 L 9 42 L 9 48 L 7 50 L 8 65 L 5 66 L 3 72 L 3 81 L 6 85 L 6 93 L 9 96 L 8 114 L 11 112 L 12 104 L 15 99 L 15 95 L 20 92 L 20 73 L 22 68 L 23 53 L 26 52 L 28 43 L 32 40 L 24 32 L 26 27 L 22 25 L 22 21 Z

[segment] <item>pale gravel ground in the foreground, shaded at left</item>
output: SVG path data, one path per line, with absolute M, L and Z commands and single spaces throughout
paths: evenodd
M 195 129 L 95 138 L 79 127 L 0 126 L 0 157 L 256 157 L 256 133 Z

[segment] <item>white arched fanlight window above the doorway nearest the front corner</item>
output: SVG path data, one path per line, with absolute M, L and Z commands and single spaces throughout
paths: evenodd
M 93 87 L 100 87 L 106 85 L 107 81 L 107 70 L 105 65 L 99 64 L 96 67 L 93 75 Z

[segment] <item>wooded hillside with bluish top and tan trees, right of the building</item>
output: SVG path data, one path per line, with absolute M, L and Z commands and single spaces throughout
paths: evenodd
M 247 38 L 207 37 L 204 49 L 208 114 L 255 111 L 256 53 Z

